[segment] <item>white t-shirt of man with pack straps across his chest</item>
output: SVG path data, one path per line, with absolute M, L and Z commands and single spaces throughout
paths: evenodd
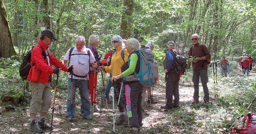
M 70 48 L 71 49 L 71 48 Z M 82 52 L 77 50 L 77 47 L 74 47 L 71 57 L 70 57 L 70 49 L 67 50 L 67 53 L 64 56 L 64 60 L 69 61 L 69 66 L 73 65 L 73 73 L 77 76 L 86 76 L 89 73 L 89 64 L 94 63 L 95 58 L 90 49 L 85 48 Z M 89 52 L 89 55 L 88 55 Z M 86 78 L 75 77 L 73 75 L 73 79 L 84 79 L 87 80 L 89 76 Z M 71 75 L 68 73 L 68 78 L 71 78 Z

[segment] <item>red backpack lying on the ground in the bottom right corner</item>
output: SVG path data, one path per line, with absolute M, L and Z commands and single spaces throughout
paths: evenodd
M 246 121 L 246 126 L 244 127 Z M 241 129 L 232 128 L 232 134 L 255 134 L 256 133 L 256 114 L 248 113 L 243 118 L 243 127 Z

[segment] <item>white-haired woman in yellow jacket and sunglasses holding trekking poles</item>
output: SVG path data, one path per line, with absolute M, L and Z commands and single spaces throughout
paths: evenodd
M 127 53 L 127 49 L 124 49 L 123 50 L 124 59 L 122 58 L 121 51 L 123 48 L 123 46 L 122 46 L 123 39 L 121 38 L 121 36 L 114 35 L 111 42 L 116 51 L 112 55 L 110 66 L 100 66 L 99 69 L 105 70 L 106 72 L 111 73 L 112 77 L 115 77 L 121 73 L 121 66 L 125 63 L 125 61 L 127 61 L 129 53 Z M 113 83 L 114 84 L 114 97 L 117 101 L 119 100 L 121 83 L 122 83 L 121 78 Z M 121 125 L 123 122 L 125 122 L 127 120 L 126 113 L 125 113 L 126 96 L 125 96 L 124 90 L 122 90 L 122 92 L 121 92 L 120 102 L 119 102 L 118 107 L 119 107 L 120 117 L 119 117 L 119 121 L 115 122 L 115 124 Z

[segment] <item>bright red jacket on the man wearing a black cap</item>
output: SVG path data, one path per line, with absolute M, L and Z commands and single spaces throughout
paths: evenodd
M 44 52 L 49 48 L 42 40 L 37 42 L 43 49 Z M 67 71 L 68 68 L 63 63 L 61 63 L 56 57 L 49 53 L 47 53 L 50 57 L 50 64 L 54 66 L 60 66 L 61 70 Z M 52 73 L 54 68 L 48 65 L 48 59 L 44 60 L 42 56 L 42 50 L 40 47 L 34 47 L 31 54 L 31 62 L 32 68 L 29 71 L 29 76 L 27 76 L 27 80 L 30 80 L 34 83 L 49 83 L 51 82 Z M 33 65 L 34 64 L 34 65 Z

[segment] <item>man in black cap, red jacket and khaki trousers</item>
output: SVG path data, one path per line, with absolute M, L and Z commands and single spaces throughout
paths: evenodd
M 30 64 L 32 68 L 29 76 L 27 76 L 27 80 L 31 81 L 32 87 L 29 109 L 31 124 L 29 130 L 36 133 L 43 132 L 42 129 L 51 129 L 51 126 L 45 121 L 45 116 L 51 107 L 51 87 L 49 82 L 52 80 L 52 73 L 59 74 L 59 70 L 71 72 L 73 69 L 62 64 L 47 50 L 54 40 L 57 40 L 57 38 L 52 31 L 44 30 L 41 32 L 40 40 L 37 42 L 39 46 L 33 47 L 31 52 Z M 54 65 L 55 68 L 52 68 L 51 65 Z M 40 110 L 40 117 L 37 123 L 36 115 L 38 110 Z

